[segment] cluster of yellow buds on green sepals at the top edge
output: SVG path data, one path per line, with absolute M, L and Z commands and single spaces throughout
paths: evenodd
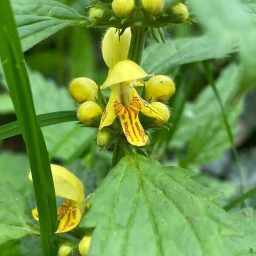
M 170 23 L 192 23 L 185 0 L 92 0 L 89 12 L 91 26 L 160 28 Z

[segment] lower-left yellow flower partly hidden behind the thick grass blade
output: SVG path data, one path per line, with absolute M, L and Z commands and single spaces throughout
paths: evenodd
M 52 177 L 57 196 L 67 198 L 58 208 L 59 226 L 55 233 L 67 232 L 75 228 L 85 211 L 84 185 L 78 177 L 62 166 L 51 164 Z M 31 172 L 29 179 L 32 180 Z M 33 217 L 38 220 L 37 208 L 32 210 Z

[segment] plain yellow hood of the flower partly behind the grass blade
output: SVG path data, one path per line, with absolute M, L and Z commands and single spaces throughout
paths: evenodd
M 62 166 L 51 164 L 55 193 L 63 198 L 72 199 L 78 203 L 84 201 L 84 185 L 76 175 Z M 32 180 L 31 172 L 29 179 Z

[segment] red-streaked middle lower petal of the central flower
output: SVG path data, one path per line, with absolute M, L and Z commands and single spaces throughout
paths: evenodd
M 116 114 L 122 124 L 125 137 L 128 143 L 136 146 L 144 146 L 148 142 L 148 136 L 145 134 L 139 120 L 139 111 L 141 111 L 141 102 L 138 96 L 134 96 L 128 108 L 125 108 L 119 102 L 114 102 Z

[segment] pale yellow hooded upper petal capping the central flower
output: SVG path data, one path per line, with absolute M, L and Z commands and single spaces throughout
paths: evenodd
M 113 69 L 109 70 L 108 78 L 101 86 L 101 89 L 107 88 L 113 84 L 122 82 L 136 81 L 148 76 L 147 73 L 133 61 L 119 61 Z

